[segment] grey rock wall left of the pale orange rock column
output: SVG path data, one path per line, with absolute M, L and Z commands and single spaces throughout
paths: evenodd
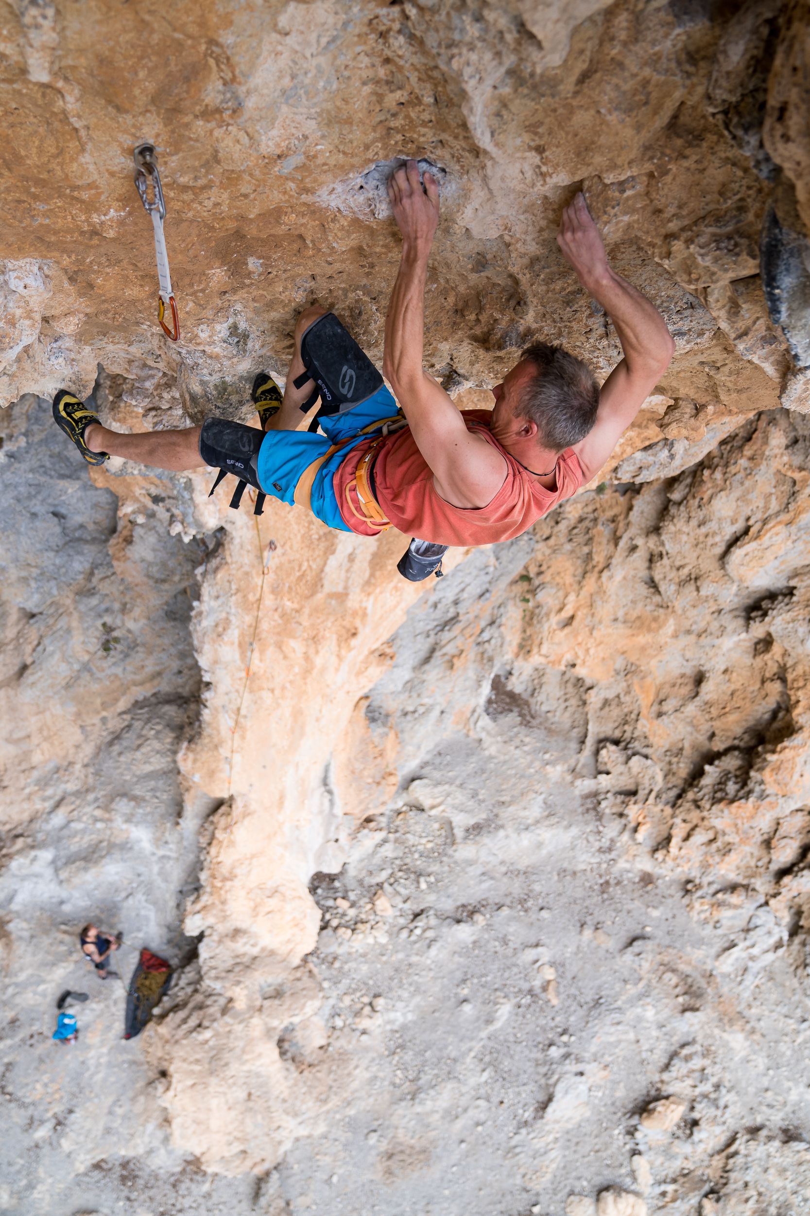
M 29 398 L 0 415 L 2 658 L 2 1156 L 0 1211 L 219 1212 L 250 1180 L 206 1177 L 168 1142 L 160 1079 L 123 1041 L 146 945 L 193 957 L 181 914 L 198 873 L 176 754 L 196 716 L 189 635 L 200 540 L 169 535 L 171 478 L 121 519 Z M 81 957 L 94 921 L 125 945 L 103 984 Z M 51 1040 L 64 989 L 79 1041 Z M 243 1210 L 249 1210 L 245 1206 Z

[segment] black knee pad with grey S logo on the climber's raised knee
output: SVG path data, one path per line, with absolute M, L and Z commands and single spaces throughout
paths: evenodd
M 342 413 L 383 388 L 383 377 L 376 367 L 334 313 L 324 313 L 305 331 L 301 359 L 306 372 L 293 383 L 296 388 L 302 388 L 308 379 L 316 383 L 315 392 L 301 406 L 304 413 L 318 396 L 318 415 Z

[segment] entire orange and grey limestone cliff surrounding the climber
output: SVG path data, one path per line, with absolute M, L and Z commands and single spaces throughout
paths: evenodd
M 808 1193 L 808 28 L 800 0 L 0 5 L 1 1209 Z M 379 362 L 409 154 L 459 404 L 536 337 L 621 356 L 554 241 L 579 186 L 667 316 L 595 489 L 420 589 L 401 536 L 87 473 L 60 385 L 119 428 L 247 418 L 315 299 Z M 136 1043 L 77 953 L 102 917 L 179 968 Z M 91 981 L 62 1051 L 53 1000 Z

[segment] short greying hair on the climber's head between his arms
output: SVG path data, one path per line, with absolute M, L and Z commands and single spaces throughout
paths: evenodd
M 536 367 L 536 375 L 521 393 L 517 412 L 537 424 L 544 447 L 562 452 L 584 439 L 596 422 L 599 384 L 582 359 L 562 347 L 536 342 L 521 359 Z

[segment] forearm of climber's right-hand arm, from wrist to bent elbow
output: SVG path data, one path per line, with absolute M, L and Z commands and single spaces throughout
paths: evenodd
M 613 322 L 628 370 L 662 376 L 675 353 L 675 343 L 655 304 L 607 265 L 582 282 Z

